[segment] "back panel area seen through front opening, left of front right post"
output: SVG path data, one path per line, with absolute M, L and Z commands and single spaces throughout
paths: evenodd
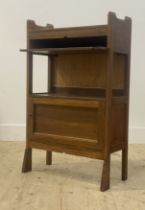
M 107 54 L 72 54 L 54 57 L 53 86 L 105 88 Z

